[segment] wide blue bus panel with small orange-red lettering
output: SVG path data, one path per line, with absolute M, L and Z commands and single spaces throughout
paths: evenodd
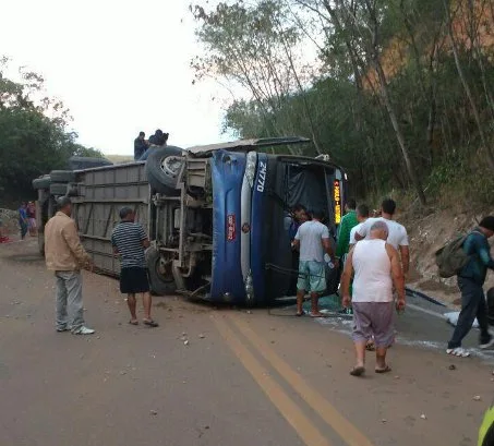
M 216 302 L 245 302 L 240 264 L 241 190 L 245 154 L 213 155 L 213 270 L 210 297 Z

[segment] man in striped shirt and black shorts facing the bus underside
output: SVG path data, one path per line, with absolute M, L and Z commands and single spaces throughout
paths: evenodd
M 128 296 L 126 303 L 131 312 L 129 324 L 138 325 L 135 294 L 143 294 L 143 323 L 157 327 L 158 324 L 150 317 L 152 298 L 144 254 L 149 248 L 149 239 L 143 226 L 135 222 L 135 214 L 130 207 L 120 209 L 120 219 L 111 234 L 111 244 L 115 254 L 120 256 L 120 292 Z

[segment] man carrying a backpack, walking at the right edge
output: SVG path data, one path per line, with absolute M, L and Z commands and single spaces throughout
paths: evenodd
M 486 349 L 494 345 L 494 338 L 489 333 L 487 308 L 482 288 L 485 282 L 487 268 L 494 269 L 494 260 L 491 256 L 491 246 L 487 242 L 487 239 L 492 236 L 494 236 L 494 216 L 489 216 L 483 218 L 479 227 L 470 232 L 465 240 L 459 239 L 459 241 L 462 241 L 462 252 L 460 251 L 459 254 L 456 254 L 450 250 L 448 254 L 449 260 L 439 260 L 437 257 L 439 275 L 442 277 L 446 276 L 444 270 L 442 270 L 442 267 L 445 266 L 444 264 L 447 264 L 448 261 L 449 264 L 460 262 L 457 276 L 458 287 L 461 291 L 461 312 L 453 337 L 448 342 L 446 350 L 448 354 L 460 358 L 470 355 L 470 352 L 461 348 L 461 340 L 472 328 L 475 317 L 480 327 L 479 347 Z M 449 246 L 447 245 L 443 250 L 439 250 L 436 256 L 441 255 L 441 251 L 447 252 L 447 248 Z

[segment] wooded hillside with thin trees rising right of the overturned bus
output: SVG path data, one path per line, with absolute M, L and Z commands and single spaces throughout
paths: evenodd
M 225 131 L 312 137 L 360 197 L 492 204 L 494 1 L 210 4 L 192 67 L 231 93 Z

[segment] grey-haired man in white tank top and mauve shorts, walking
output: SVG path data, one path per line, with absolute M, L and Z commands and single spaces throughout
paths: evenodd
M 365 346 L 374 336 L 376 347 L 376 373 L 390 372 L 386 363 L 387 349 L 394 341 L 393 286 L 398 294 L 397 310 L 405 309 L 405 280 L 398 252 L 389 243 L 388 227 L 375 221 L 370 238 L 357 243 L 348 254 L 341 280 L 344 306 L 353 306 L 353 333 L 357 364 L 350 371 L 353 376 L 365 372 Z M 350 279 L 354 273 L 353 296 L 350 297 Z

